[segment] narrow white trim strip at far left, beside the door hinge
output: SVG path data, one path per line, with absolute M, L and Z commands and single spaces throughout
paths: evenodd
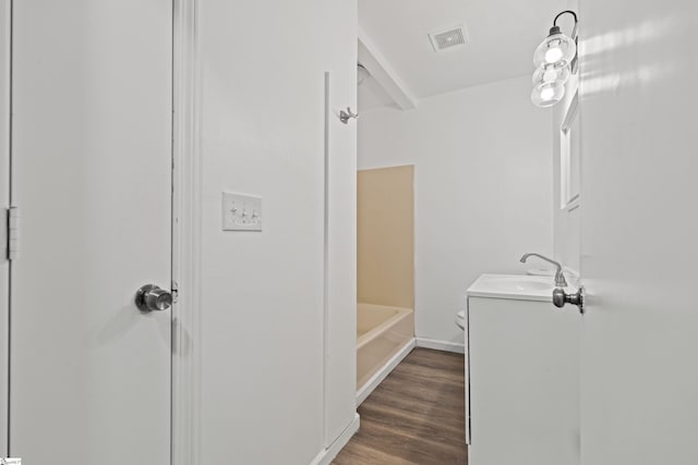
M 0 0 L 0 457 L 9 455 L 10 438 L 10 261 L 5 209 L 10 207 L 12 0 Z

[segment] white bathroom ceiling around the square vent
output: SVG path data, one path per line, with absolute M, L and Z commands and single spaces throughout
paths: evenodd
M 359 0 L 359 26 L 407 90 L 419 99 L 532 74 L 533 50 L 567 3 L 568 0 Z M 428 34 L 464 23 L 469 44 L 435 52 Z M 563 30 L 571 28 L 569 23 L 558 24 Z M 366 84 L 359 90 L 360 108 L 385 105 L 386 96 L 374 88 L 375 83 Z

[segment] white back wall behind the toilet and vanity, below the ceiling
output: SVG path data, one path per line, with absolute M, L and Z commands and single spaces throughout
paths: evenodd
M 418 338 L 462 343 L 454 317 L 469 284 L 485 272 L 525 272 L 521 254 L 553 250 L 552 115 L 531 105 L 530 83 L 516 77 L 359 120 L 359 169 L 416 164 Z

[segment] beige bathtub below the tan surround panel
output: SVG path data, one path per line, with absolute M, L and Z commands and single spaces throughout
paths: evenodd
M 358 304 L 357 390 L 360 391 L 413 338 L 414 311 L 411 308 Z

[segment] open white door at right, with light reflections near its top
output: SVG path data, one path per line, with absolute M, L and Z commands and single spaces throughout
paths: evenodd
M 585 465 L 698 463 L 698 2 L 581 0 Z

